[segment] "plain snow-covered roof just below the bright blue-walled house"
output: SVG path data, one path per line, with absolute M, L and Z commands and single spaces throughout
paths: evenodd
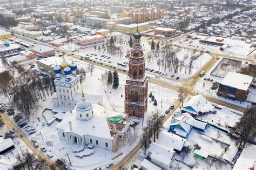
M 186 142 L 186 139 L 183 139 L 176 134 L 168 133 L 165 131 L 160 133 L 157 141 L 157 143 L 161 146 L 167 147 L 172 150 L 176 149 L 178 151 L 181 151 L 185 142 Z

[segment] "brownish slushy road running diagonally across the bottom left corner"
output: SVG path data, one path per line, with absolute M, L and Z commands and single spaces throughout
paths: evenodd
M 26 144 L 26 146 L 29 147 L 29 149 L 31 149 L 31 151 L 33 153 L 35 153 L 38 157 L 41 157 L 42 159 L 44 159 L 46 161 L 46 163 L 48 165 L 55 165 L 55 162 L 53 162 L 50 158 L 48 158 L 46 155 L 44 155 L 39 147 L 36 148 L 35 146 L 33 146 L 32 142 L 30 141 L 30 139 L 26 136 L 26 134 L 19 128 L 17 127 L 14 122 L 8 117 L 8 115 L 6 115 L 5 113 L 0 112 L 2 119 L 4 121 L 5 126 L 9 129 L 12 130 L 14 129 L 17 135 L 17 138 L 20 138 L 21 135 L 23 135 L 22 139 L 23 142 Z M 1 169 L 1 168 L 0 168 Z

